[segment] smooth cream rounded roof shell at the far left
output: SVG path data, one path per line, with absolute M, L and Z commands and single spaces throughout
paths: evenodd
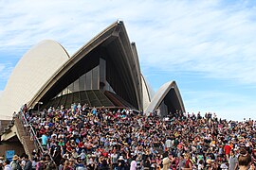
M 0 98 L 0 116 L 12 118 L 13 111 L 30 101 L 66 62 L 68 54 L 58 42 L 46 40 L 33 46 L 19 60 Z

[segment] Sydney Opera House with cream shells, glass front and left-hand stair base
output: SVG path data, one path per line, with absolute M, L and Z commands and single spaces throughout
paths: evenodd
M 175 81 L 163 84 L 156 93 L 150 88 L 140 71 L 136 44 L 129 41 L 123 22 L 118 21 L 71 57 L 61 44 L 49 40 L 27 51 L 1 94 L 0 150 L 29 148 L 29 137 L 20 131 L 25 126 L 13 118 L 24 104 L 43 110 L 61 105 L 70 108 L 72 103 L 144 114 L 157 111 L 160 116 L 185 112 Z

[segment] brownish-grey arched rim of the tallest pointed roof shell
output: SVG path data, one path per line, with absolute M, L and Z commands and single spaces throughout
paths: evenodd
M 98 46 L 107 46 L 111 42 L 118 42 L 122 47 L 120 50 L 123 50 L 124 56 L 120 57 L 126 66 L 127 72 L 131 76 L 131 81 L 133 82 L 133 87 L 131 88 L 136 90 L 136 97 L 138 101 L 138 108 L 142 109 L 142 90 L 139 88 L 141 84 L 140 80 L 140 69 L 139 63 L 137 59 L 137 52 L 135 50 L 135 45 L 132 47 L 132 44 L 129 41 L 125 26 L 123 22 L 115 22 L 111 26 L 106 27 L 100 34 L 95 36 L 91 41 L 85 43 L 74 55 L 68 59 L 62 68 L 60 68 L 55 75 L 51 77 L 51 80 L 48 81 L 46 87 L 44 87 L 40 93 L 38 93 L 31 101 L 30 104 L 35 103 L 36 101 L 40 101 L 42 98 L 46 96 L 46 93 L 56 85 L 56 79 L 60 79 L 64 74 L 66 74 L 72 67 L 79 63 L 87 54 L 96 49 Z M 125 44 L 125 45 L 124 45 Z M 135 55 L 136 54 L 136 55 Z M 136 65 L 136 69 L 132 69 L 132 65 Z M 138 72 L 138 73 L 137 73 Z M 139 86 L 135 82 L 138 82 Z

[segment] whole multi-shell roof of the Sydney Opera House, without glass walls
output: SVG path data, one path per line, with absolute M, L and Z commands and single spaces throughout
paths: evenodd
M 71 58 L 58 42 L 43 41 L 32 47 L 18 62 L 0 98 L 0 116 L 12 116 L 27 103 L 48 102 L 65 87 L 99 63 L 107 62 L 108 83 L 137 110 L 154 111 L 164 99 L 175 110 L 185 111 L 174 81 L 164 84 L 153 97 L 153 91 L 141 75 L 135 42 L 130 42 L 124 24 L 116 22 L 79 49 Z M 111 78 L 111 76 L 116 76 Z M 117 78 L 118 77 L 118 78 Z M 119 86 L 119 87 L 114 87 Z

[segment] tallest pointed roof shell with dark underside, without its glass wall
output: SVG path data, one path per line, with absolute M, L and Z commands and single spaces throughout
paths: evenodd
M 133 47 L 135 48 L 135 47 Z M 140 70 L 135 49 L 132 50 L 125 27 L 117 22 L 85 44 L 64 66 L 51 77 L 41 92 L 29 103 L 49 101 L 67 85 L 94 68 L 99 59 L 106 60 L 107 81 L 114 91 L 137 110 L 142 109 Z M 111 78 L 116 74 L 117 79 Z

